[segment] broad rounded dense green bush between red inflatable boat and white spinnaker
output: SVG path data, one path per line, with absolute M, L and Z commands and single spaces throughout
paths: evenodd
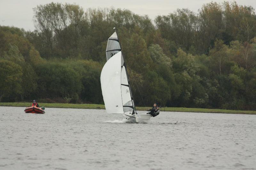
M 81 92 L 79 74 L 68 67 L 68 64 L 45 62 L 39 64 L 35 71 L 38 75 L 38 97 L 76 98 Z

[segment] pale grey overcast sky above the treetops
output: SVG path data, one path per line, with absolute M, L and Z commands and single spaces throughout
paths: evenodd
M 211 0 L 161 0 L 161 1 L 86 1 L 86 0 L 0 0 L 0 25 L 16 26 L 25 30 L 33 31 L 34 23 L 32 21 L 34 12 L 33 8 L 39 4 L 48 4 L 51 2 L 59 3 L 76 3 L 81 6 L 84 11 L 88 8 L 121 8 L 128 9 L 139 15 L 148 15 L 152 20 L 157 15 L 167 15 L 176 11 L 178 8 L 188 8 L 197 12 L 203 4 L 210 3 Z M 223 0 L 215 0 L 214 2 L 222 3 Z M 233 2 L 233 1 L 230 1 Z M 252 6 L 256 10 L 256 0 L 236 0 L 239 5 Z

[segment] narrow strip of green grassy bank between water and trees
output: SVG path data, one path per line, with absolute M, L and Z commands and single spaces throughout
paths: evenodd
M 13 107 L 28 107 L 31 103 L 18 102 L 18 103 L 0 103 L 0 106 L 13 106 Z M 98 104 L 68 104 L 68 103 L 39 103 L 44 107 L 55 108 L 81 108 L 81 109 L 105 109 L 104 105 Z M 137 110 L 148 110 L 150 107 L 136 107 Z M 47 111 L 47 110 L 46 110 Z M 224 109 L 204 109 L 204 108 L 186 108 L 186 107 L 162 107 L 161 111 L 168 112 L 200 112 L 200 113 L 230 113 L 230 114 L 252 114 L 256 115 L 256 111 L 250 110 L 224 110 Z

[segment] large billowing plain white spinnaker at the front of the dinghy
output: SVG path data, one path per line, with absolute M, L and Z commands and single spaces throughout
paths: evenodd
M 108 114 L 124 114 L 121 95 L 121 55 L 119 52 L 111 57 L 100 75 L 103 100 Z

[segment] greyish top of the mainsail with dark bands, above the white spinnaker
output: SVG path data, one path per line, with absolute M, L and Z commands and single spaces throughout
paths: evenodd
M 108 44 L 107 44 L 107 49 L 106 49 L 106 56 L 107 56 L 107 61 L 109 58 L 114 56 L 116 53 L 121 51 L 121 47 L 119 44 L 119 40 L 117 38 L 116 32 L 114 32 L 109 38 L 108 38 Z

